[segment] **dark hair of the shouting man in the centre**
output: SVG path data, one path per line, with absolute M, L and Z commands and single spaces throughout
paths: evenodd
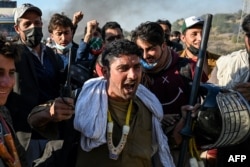
M 102 52 L 102 65 L 110 68 L 110 64 L 114 58 L 121 55 L 137 55 L 142 57 L 142 50 L 132 41 L 127 39 L 115 40 L 108 43 Z

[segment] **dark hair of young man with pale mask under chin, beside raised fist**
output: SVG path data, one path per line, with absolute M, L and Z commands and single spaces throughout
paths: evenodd
M 68 18 L 63 14 L 55 13 L 49 21 L 48 25 L 49 33 L 52 33 L 53 30 L 55 30 L 58 26 L 70 27 L 71 30 L 73 30 L 74 28 L 72 20 L 70 18 Z

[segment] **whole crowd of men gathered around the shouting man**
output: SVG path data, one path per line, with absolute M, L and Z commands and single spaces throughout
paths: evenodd
M 89 20 L 77 28 L 82 12 L 73 19 L 55 13 L 44 44 L 42 15 L 39 7 L 22 4 L 14 11 L 18 41 L 0 40 L 0 166 L 227 167 L 235 165 L 231 155 L 250 152 L 249 133 L 203 150 L 202 137 L 214 137 L 204 135 L 207 124 L 204 132 L 193 131 L 195 153 L 187 150 L 180 162 L 188 116 L 196 125 L 207 119 L 201 114 L 206 100 L 197 96 L 189 104 L 203 18 L 188 17 L 181 32 L 172 33 L 168 20 L 143 22 L 129 40 L 118 22 L 100 27 Z M 205 51 L 200 83 L 236 91 L 249 102 L 250 15 L 242 28 L 244 50 L 226 56 Z M 84 36 L 75 42 L 79 29 Z M 249 164 L 244 160 L 237 166 Z

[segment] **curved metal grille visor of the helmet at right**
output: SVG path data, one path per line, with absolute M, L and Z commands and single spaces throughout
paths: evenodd
M 219 93 L 216 101 L 222 117 L 222 131 L 219 139 L 210 147 L 224 147 L 239 144 L 250 135 L 250 106 L 236 91 Z

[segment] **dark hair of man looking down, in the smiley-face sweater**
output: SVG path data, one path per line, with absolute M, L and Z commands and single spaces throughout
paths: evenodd
M 136 42 L 137 39 L 147 41 L 152 45 L 162 45 L 165 41 L 163 29 L 156 22 L 141 23 L 133 30 L 131 33 L 131 40 Z

